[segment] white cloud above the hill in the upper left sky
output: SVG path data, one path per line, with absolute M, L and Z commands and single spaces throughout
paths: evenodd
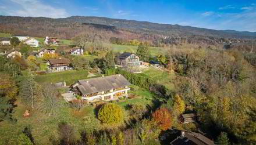
M 31 17 L 67 17 L 69 14 L 65 9 L 54 8 L 44 4 L 38 0 L 10 0 L 13 5 L 6 6 L 8 10 L 5 11 L 10 16 L 31 16 Z

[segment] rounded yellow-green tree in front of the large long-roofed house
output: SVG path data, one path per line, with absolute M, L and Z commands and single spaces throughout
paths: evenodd
M 123 120 L 122 108 L 117 104 L 106 103 L 99 109 L 98 119 L 104 124 L 117 124 Z

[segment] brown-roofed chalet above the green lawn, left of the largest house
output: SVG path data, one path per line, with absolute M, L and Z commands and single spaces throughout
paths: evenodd
M 64 71 L 73 69 L 70 67 L 70 61 L 68 59 L 49 59 L 46 64 L 48 70 L 51 71 Z

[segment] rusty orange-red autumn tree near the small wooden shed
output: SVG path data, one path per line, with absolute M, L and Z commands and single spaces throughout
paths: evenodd
M 159 128 L 166 131 L 172 126 L 172 117 L 166 108 L 159 108 L 152 114 L 152 121 L 157 122 Z

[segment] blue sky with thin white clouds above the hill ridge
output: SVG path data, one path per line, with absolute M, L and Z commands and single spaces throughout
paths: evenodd
M 212 28 L 256 31 L 256 0 L 0 0 L 6 16 L 101 16 Z

